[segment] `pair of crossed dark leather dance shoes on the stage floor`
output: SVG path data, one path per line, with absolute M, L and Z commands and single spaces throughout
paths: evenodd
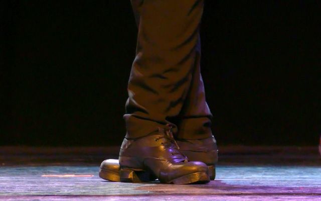
M 215 179 L 217 152 L 214 136 L 176 140 L 171 129 L 159 129 L 141 138 L 125 138 L 119 159 L 104 160 L 99 176 L 121 182 L 207 183 Z

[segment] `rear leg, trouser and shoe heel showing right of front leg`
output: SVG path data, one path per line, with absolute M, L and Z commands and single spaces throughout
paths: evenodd
M 197 43 L 197 59 L 192 84 L 178 118 L 177 143 L 189 160 L 202 161 L 209 167 L 209 175 L 215 179 L 218 161 L 216 140 L 211 131 L 211 112 L 205 100 L 205 90 L 200 68 L 201 43 Z

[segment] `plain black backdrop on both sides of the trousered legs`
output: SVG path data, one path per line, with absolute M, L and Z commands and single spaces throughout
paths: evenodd
M 219 145 L 318 143 L 320 10 L 206 2 L 202 72 Z M 1 1 L 0 11 L 0 145 L 120 145 L 137 32 L 129 0 Z

